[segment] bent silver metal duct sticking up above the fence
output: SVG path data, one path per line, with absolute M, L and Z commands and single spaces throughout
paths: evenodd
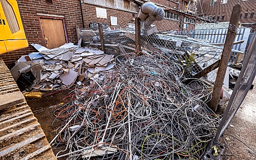
M 165 11 L 157 7 L 154 3 L 147 2 L 142 5 L 139 12 L 142 28 L 148 28 L 154 21 L 161 21 L 165 16 Z

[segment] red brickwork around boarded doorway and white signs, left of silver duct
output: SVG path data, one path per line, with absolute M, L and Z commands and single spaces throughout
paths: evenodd
M 68 40 L 69 42 L 77 43 L 75 26 L 78 25 L 79 27 L 82 27 L 79 0 L 53 0 L 53 4 L 45 3 L 45 0 L 17 0 L 17 2 L 27 34 L 29 47 L 0 55 L 8 68 L 13 67 L 15 61 L 18 60 L 20 56 L 27 55 L 31 52 L 37 52 L 34 47 L 30 45 L 31 43 L 44 45 L 37 13 L 65 16 Z M 86 3 L 83 3 L 82 6 L 85 27 L 89 27 L 89 23 L 91 22 L 102 22 L 110 25 L 110 15 L 118 17 L 118 24 L 131 22 L 132 18 L 134 18 L 132 17 L 132 12 L 110 9 L 107 7 L 100 8 L 107 9 L 108 19 L 97 18 L 95 7 L 99 6 Z M 137 14 L 135 14 L 135 17 L 136 16 Z

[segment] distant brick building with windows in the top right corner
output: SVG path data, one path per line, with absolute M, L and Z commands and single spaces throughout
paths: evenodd
M 242 11 L 240 14 L 240 23 L 256 23 L 255 0 L 204 0 L 198 3 L 197 13 L 204 16 L 212 16 L 215 20 L 218 18 L 229 21 L 233 6 L 240 3 Z M 253 26 L 251 26 L 253 27 Z

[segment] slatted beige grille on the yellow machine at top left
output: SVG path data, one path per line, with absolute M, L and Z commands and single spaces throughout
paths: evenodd
M 11 30 L 11 33 L 19 31 L 18 21 L 12 9 L 12 6 L 6 0 L 0 0 L 2 8 L 4 10 L 4 15 L 7 21 L 7 24 Z

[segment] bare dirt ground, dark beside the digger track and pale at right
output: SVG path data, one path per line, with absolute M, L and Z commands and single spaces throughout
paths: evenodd
M 256 84 L 256 81 L 254 81 Z M 41 99 L 29 99 L 27 104 L 31 107 L 34 116 L 38 119 L 45 132 L 47 140 L 50 142 L 56 135 L 56 129 L 63 121 L 54 116 L 54 106 L 60 104 L 69 95 L 70 90 L 63 90 L 52 95 L 56 91 L 44 92 Z M 219 112 L 225 110 L 225 105 L 219 108 Z M 55 121 L 54 121 L 55 120 Z M 54 123 L 53 123 L 54 121 Z M 53 124 L 53 125 L 52 125 Z M 256 159 L 256 87 L 248 92 L 240 109 L 231 121 L 234 127 L 228 127 L 221 142 L 227 144 L 224 160 L 255 160 Z M 246 147 L 246 145 L 248 147 Z M 54 154 L 64 150 L 64 145 L 52 147 Z M 248 149 L 249 148 L 249 149 Z M 250 150 L 250 152 L 248 151 Z M 66 151 L 67 152 L 67 151 Z M 65 152 L 59 153 L 63 155 Z M 58 160 L 64 160 L 65 157 Z

